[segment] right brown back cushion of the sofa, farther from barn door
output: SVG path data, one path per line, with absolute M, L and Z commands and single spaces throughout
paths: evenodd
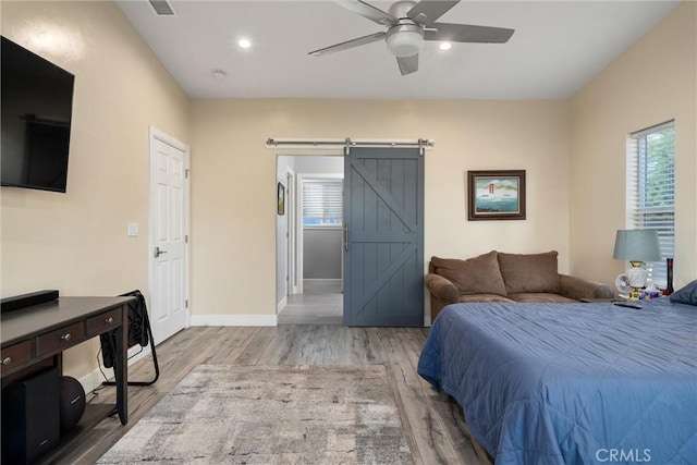
M 545 254 L 499 253 L 499 266 L 506 294 L 549 292 L 559 294 L 561 284 L 557 270 L 557 250 Z

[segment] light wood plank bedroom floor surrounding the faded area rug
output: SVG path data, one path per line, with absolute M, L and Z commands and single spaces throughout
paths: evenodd
M 115 417 L 102 420 L 58 463 L 94 463 L 199 364 L 384 364 L 416 464 L 490 464 L 486 454 L 475 449 L 468 439 L 458 406 L 448 396 L 437 394 L 416 374 L 418 354 L 427 334 L 428 328 L 326 325 L 186 329 L 157 346 L 160 362 L 157 383 L 129 389 L 129 424 L 121 426 Z M 151 377 L 149 357 L 129 369 L 131 380 Z M 91 402 L 113 403 L 114 392 L 114 388 L 102 388 Z

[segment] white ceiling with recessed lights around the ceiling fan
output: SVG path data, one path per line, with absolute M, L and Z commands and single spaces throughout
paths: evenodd
M 370 3 L 387 11 L 391 2 Z M 449 51 L 427 41 L 419 71 L 407 76 L 382 41 L 309 57 L 382 30 L 328 0 L 174 0 L 173 17 L 157 16 L 145 0 L 119 5 L 195 98 L 564 99 L 677 3 L 463 0 L 439 21 L 514 28 L 511 40 Z M 252 48 L 237 47 L 242 37 Z M 213 70 L 227 77 L 213 78 Z

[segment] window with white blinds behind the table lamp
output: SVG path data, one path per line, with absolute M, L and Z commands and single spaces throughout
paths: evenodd
M 673 257 L 675 124 L 670 121 L 631 135 L 627 148 L 627 227 L 653 229 L 661 257 Z M 653 266 L 653 282 L 667 283 L 665 266 Z

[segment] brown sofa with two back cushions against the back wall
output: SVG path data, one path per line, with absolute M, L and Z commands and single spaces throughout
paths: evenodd
M 425 280 L 431 321 L 445 305 L 458 302 L 570 303 L 614 296 L 607 284 L 559 274 L 558 255 L 491 250 L 467 260 L 432 257 Z

